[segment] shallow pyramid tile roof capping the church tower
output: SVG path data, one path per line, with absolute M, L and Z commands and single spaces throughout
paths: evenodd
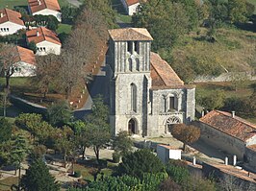
M 153 40 L 153 37 L 144 28 L 112 29 L 109 30 L 109 34 L 114 41 Z

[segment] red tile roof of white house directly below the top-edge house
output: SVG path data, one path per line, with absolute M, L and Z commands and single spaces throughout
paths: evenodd
M 55 44 L 62 45 L 61 40 L 58 38 L 57 34 L 49 29 L 46 29 L 45 27 L 39 27 L 37 29 L 27 31 L 26 36 L 29 42 L 35 41 L 36 44 L 46 40 Z

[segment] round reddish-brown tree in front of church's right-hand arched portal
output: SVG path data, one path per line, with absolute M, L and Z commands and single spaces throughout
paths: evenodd
M 185 124 L 177 124 L 172 128 L 171 134 L 184 143 L 183 150 L 185 151 L 187 144 L 192 144 L 198 140 L 200 137 L 200 129 L 192 125 L 186 126 Z

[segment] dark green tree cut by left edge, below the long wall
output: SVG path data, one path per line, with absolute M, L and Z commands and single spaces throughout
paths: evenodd
M 10 140 L 12 136 L 12 124 L 6 118 L 0 118 L 0 144 Z

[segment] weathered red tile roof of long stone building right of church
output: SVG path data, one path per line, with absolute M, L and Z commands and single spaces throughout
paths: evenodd
M 256 135 L 254 124 L 237 116 L 233 118 L 229 112 L 212 110 L 199 120 L 218 131 L 223 131 L 243 141 Z

